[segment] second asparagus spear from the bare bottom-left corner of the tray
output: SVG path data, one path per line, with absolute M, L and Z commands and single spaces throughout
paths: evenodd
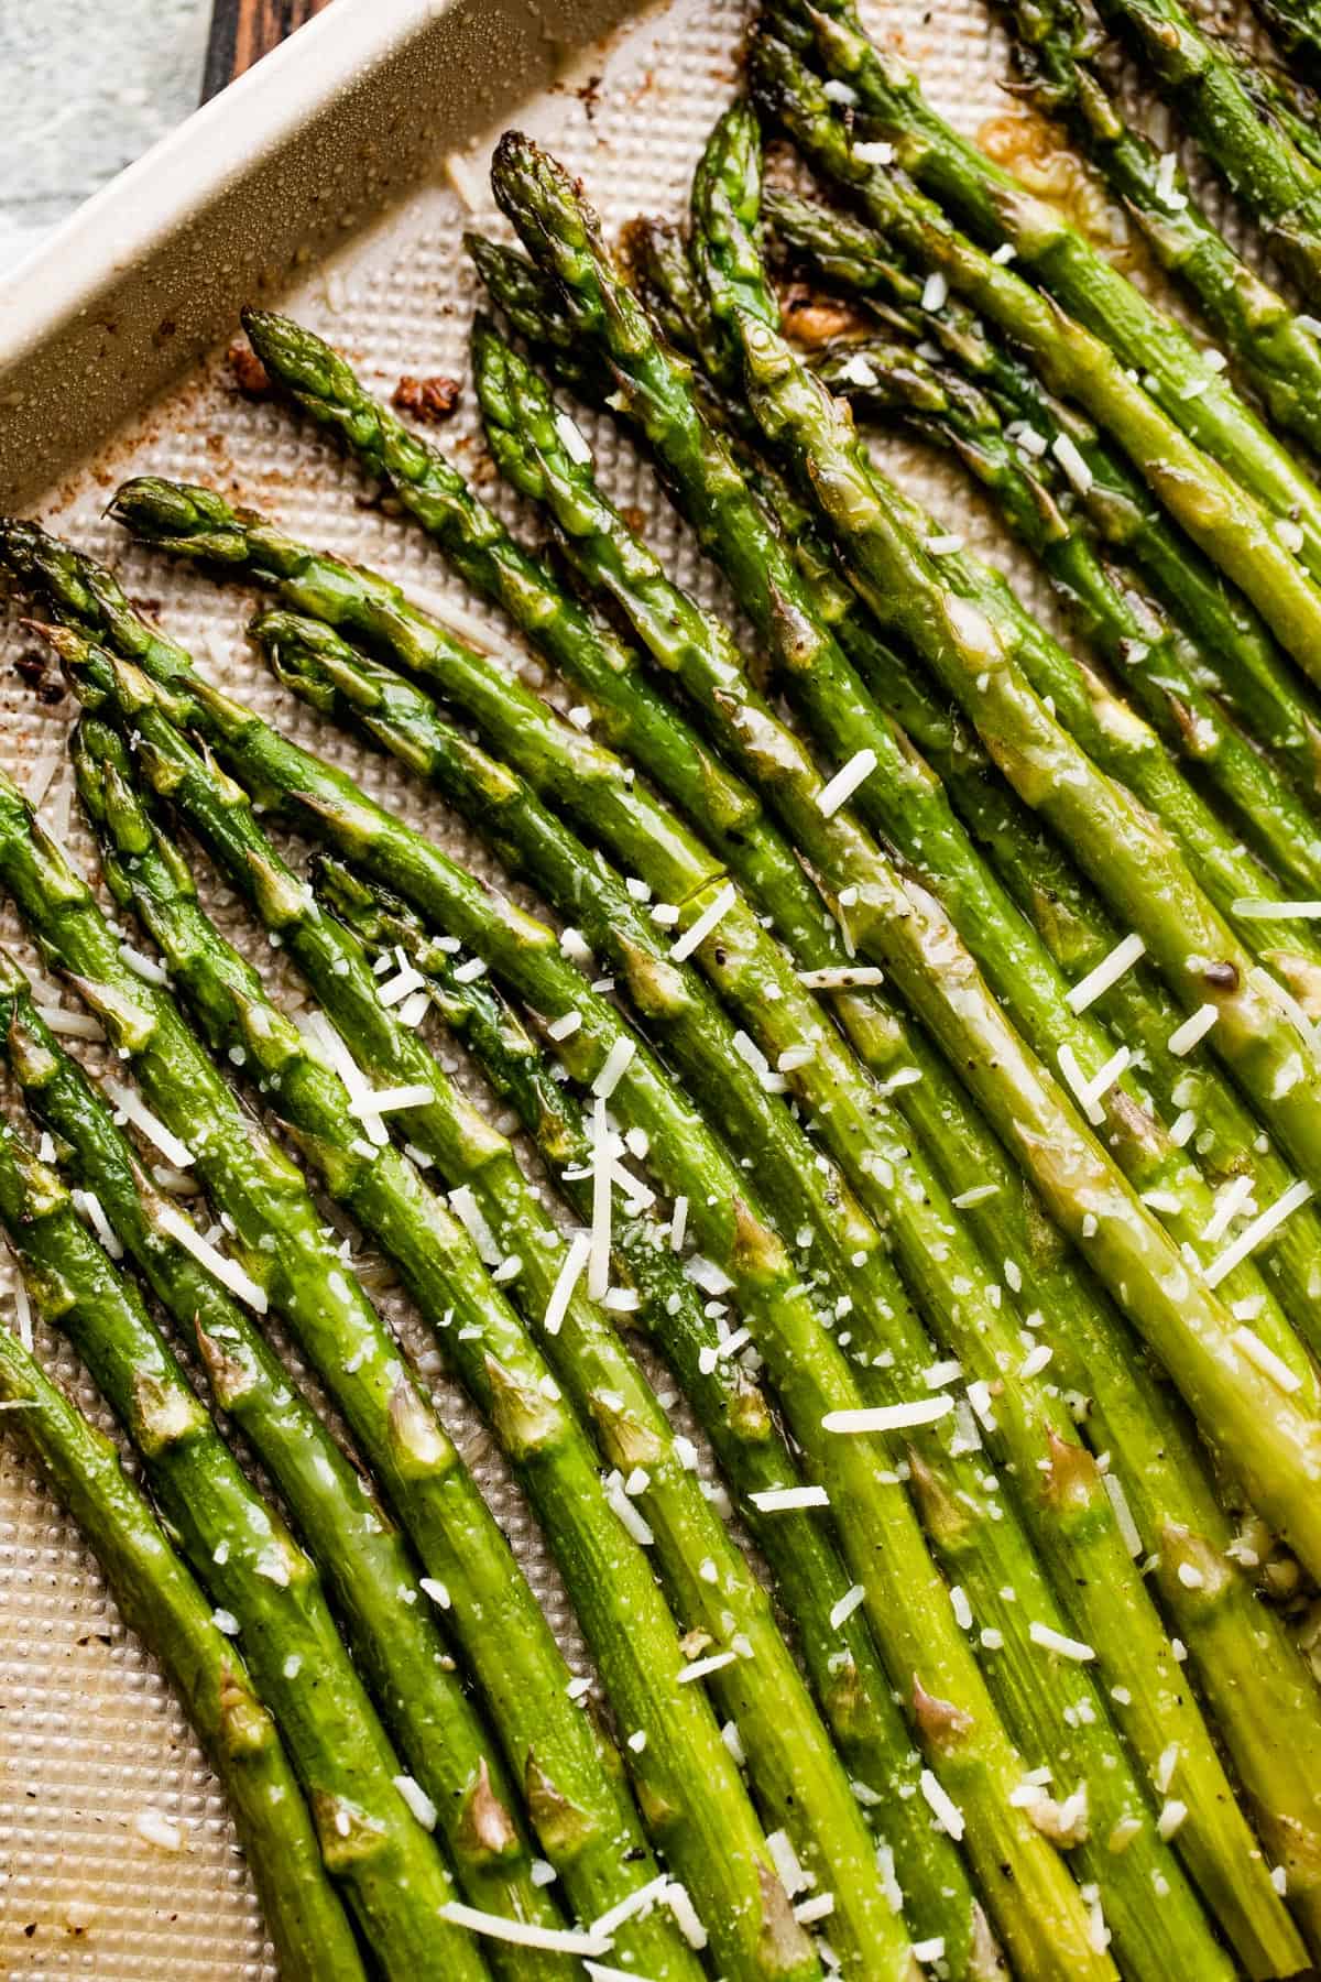
M 487 1974 L 444 1925 L 454 1881 L 398 1782 L 386 1734 L 335 1629 L 311 1560 L 248 1485 L 127 1280 L 59 1177 L 0 1130 L 0 1221 L 42 1316 L 83 1358 L 133 1439 L 184 1560 L 242 1635 L 311 1806 L 327 1871 L 388 1976 Z M 438 1917 L 442 1917 L 438 1921 Z

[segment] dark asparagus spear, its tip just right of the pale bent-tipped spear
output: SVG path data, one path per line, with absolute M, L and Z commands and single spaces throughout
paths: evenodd
M 1141 478 L 1101 442 L 1095 426 L 1054 400 L 986 337 L 970 311 L 953 301 L 939 313 L 911 307 L 921 283 L 883 262 L 879 238 L 848 214 L 770 186 L 764 212 L 794 256 L 806 258 L 830 287 L 875 307 L 883 327 L 939 339 L 961 375 L 980 383 L 1002 416 L 1020 422 L 1020 450 L 1030 444 L 1054 462 L 1066 442 L 1077 448 L 1089 482 L 1085 494 L 1073 490 L 1075 513 L 1081 509 L 1097 539 L 1137 565 L 1167 612 L 1198 642 L 1216 692 L 1287 771 L 1299 797 L 1315 805 L 1321 700 L 1248 601 L 1232 595 L 1182 531 L 1153 509 Z

